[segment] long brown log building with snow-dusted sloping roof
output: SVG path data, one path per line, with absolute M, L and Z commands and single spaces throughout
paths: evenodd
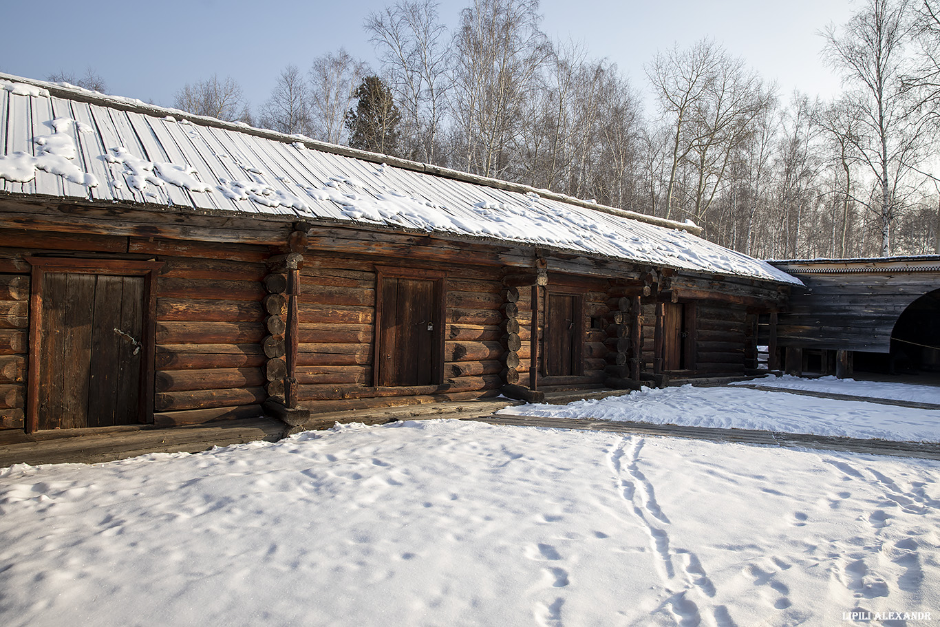
M 799 280 L 695 225 L 0 74 L 0 428 L 743 376 Z

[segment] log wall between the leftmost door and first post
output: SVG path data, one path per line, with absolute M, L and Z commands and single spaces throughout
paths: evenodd
M 267 247 L 131 241 L 164 261 L 157 285 L 154 423 L 262 415 Z

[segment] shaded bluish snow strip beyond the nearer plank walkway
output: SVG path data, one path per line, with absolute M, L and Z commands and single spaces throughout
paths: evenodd
M 836 381 L 833 378 L 833 381 Z M 870 382 L 832 384 L 796 377 L 776 381 L 758 379 L 758 384 L 790 384 L 798 389 L 836 391 L 840 394 L 930 402 L 925 387 L 936 398 L 940 388 L 902 384 L 869 387 Z M 874 385 L 874 384 L 871 384 Z M 851 391 L 850 391 L 851 390 Z M 866 390 L 869 393 L 863 394 Z M 896 394 L 897 396 L 890 396 Z M 527 404 L 501 410 L 505 414 L 559 418 L 597 418 L 658 425 L 756 429 L 790 433 L 813 433 L 854 438 L 880 438 L 907 442 L 940 442 L 940 411 L 875 404 L 856 400 L 831 400 L 766 392 L 743 387 L 643 388 L 629 396 L 603 400 L 578 400 L 568 405 Z

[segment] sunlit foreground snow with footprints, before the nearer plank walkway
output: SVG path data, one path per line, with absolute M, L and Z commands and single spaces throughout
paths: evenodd
M 428 420 L 0 469 L 8 627 L 853 617 L 940 620 L 940 462 Z

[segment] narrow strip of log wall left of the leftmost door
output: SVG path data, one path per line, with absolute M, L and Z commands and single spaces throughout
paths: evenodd
M 0 429 L 24 428 L 29 282 L 28 273 L 0 274 Z

